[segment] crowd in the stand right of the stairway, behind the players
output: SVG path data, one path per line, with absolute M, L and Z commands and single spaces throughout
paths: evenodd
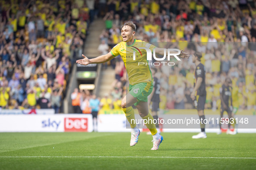
M 220 108 L 219 88 L 227 76 L 232 78 L 233 88 L 239 88 L 240 109 L 256 106 L 256 0 L 109 0 L 104 6 L 106 29 L 100 40 L 109 45 L 109 51 L 122 41 L 121 25 L 133 21 L 136 39 L 189 54 L 202 53 L 206 108 Z M 172 62 L 175 66 L 157 66 L 162 82 L 160 109 L 193 108 L 189 96 L 195 65 L 191 59 Z M 116 57 L 108 65 L 115 69 L 115 83 L 121 82 L 125 91 L 122 63 Z

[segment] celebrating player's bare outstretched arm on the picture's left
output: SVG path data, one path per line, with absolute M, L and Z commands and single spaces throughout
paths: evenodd
M 85 65 L 85 66 L 88 64 L 93 64 L 93 63 L 105 63 L 115 57 L 111 54 L 111 52 L 109 52 L 108 54 L 105 54 L 105 55 L 101 55 L 96 58 L 92 58 L 92 59 L 88 59 L 87 57 L 84 56 L 84 54 L 82 54 L 82 56 L 84 57 L 84 59 L 77 60 L 76 63 Z

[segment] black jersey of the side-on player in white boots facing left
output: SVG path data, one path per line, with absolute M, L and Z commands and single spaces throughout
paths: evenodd
M 198 88 L 197 95 L 200 95 L 200 96 L 206 95 L 206 90 L 205 90 L 205 68 L 204 68 L 204 65 L 202 63 L 198 64 L 197 68 L 195 69 L 194 76 L 195 76 L 194 86 L 195 86 L 195 83 L 196 83 L 198 77 L 201 77 L 203 79 L 200 87 Z

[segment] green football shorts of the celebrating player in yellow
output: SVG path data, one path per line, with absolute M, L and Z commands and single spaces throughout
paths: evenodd
M 137 101 L 134 106 L 137 106 L 140 101 L 147 102 L 148 96 L 151 94 L 153 90 L 153 82 L 142 82 L 136 85 L 129 85 L 129 93 L 134 97 L 137 98 Z

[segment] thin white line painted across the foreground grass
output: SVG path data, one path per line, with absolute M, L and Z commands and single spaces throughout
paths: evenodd
M 15 156 L 0 156 L 0 158 L 36 158 L 36 157 L 56 157 L 58 156 L 28 156 L 28 157 L 15 157 Z M 64 157 L 64 156 L 63 156 Z M 67 158 L 79 158 L 79 157 L 68 157 Z M 95 157 L 81 157 L 81 158 L 112 158 L 111 156 L 95 156 Z M 129 157 L 113 157 L 113 158 L 129 158 Z M 256 157 L 131 157 L 131 158 L 203 158 L 203 159 L 256 159 Z

